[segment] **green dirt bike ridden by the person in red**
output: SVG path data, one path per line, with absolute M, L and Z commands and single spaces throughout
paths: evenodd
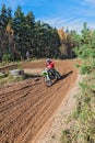
M 54 80 L 61 79 L 60 73 L 57 72 L 56 69 L 49 70 L 45 68 L 41 75 L 44 76 L 44 82 L 47 87 L 50 87 L 54 84 Z

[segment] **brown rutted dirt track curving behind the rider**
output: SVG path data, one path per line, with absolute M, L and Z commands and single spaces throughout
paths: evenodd
M 41 77 L 0 88 L 0 143 L 32 143 L 43 124 L 74 86 L 74 62 L 55 63 L 62 79 L 49 88 L 44 85 Z M 43 69 L 45 63 L 31 62 L 23 66 L 25 69 Z

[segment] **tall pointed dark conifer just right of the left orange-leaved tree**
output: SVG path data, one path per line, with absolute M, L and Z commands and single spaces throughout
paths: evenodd
M 20 6 L 14 12 L 12 29 L 14 31 L 14 40 L 15 40 L 16 50 L 21 53 L 21 58 L 25 58 L 26 22 L 25 22 L 24 13 L 22 12 L 22 9 Z

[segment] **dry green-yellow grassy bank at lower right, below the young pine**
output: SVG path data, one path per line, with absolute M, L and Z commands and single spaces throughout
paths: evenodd
M 61 135 L 61 143 L 95 143 L 95 76 L 80 84 L 76 108 Z

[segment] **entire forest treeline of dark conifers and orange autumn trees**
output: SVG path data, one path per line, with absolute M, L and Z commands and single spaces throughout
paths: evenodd
M 95 32 L 87 30 L 85 34 L 95 45 Z M 84 42 L 75 31 L 57 30 L 40 20 L 36 22 L 33 12 L 24 14 L 20 6 L 14 13 L 5 4 L 0 9 L 0 61 L 25 59 L 27 51 L 32 58 L 72 58 L 73 48 Z

